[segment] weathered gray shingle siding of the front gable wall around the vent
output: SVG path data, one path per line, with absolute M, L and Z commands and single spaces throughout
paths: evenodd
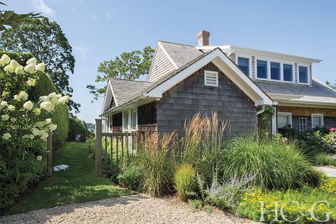
M 218 87 L 204 86 L 204 70 L 218 72 Z M 228 137 L 254 133 L 257 127 L 254 102 L 212 63 L 166 91 L 156 104 L 159 133 L 181 132 L 186 119 L 212 111 L 217 111 L 219 120 L 230 122 Z

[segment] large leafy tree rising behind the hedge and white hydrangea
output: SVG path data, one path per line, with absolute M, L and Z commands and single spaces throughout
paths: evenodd
M 74 73 L 74 55 L 65 34 L 54 21 L 41 16 L 1 33 L 0 47 L 12 52 L 30 52 L 45 63 L 45 72 L 61 94 L 72 96 L 69 72 Z M 79 103 L 69 102 L 69 110 L 79 112 Z

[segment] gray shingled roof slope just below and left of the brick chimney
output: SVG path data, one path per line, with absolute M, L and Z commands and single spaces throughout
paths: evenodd
M 195 58 L 203 55 L 203 52 L 191 45 L 181 45 L 179 43 L 170 43 L 162 40 L 159 40 L 159 43 L 161 43 L 168 55 L 172 57 L 172 60 L 177 64 L 177 67 L 182 67 Z

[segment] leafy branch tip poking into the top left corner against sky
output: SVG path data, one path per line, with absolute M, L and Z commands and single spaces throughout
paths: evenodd
M 2 1 L 0 4 L 6 6 Z M 0 11 L 0 31 L 7 30 L 6 26 L 15 27 L 20 23 L 30 23 L 31 19 L 37 18 L 38 15 L 40 13 L 17 14 L 14 11 Z

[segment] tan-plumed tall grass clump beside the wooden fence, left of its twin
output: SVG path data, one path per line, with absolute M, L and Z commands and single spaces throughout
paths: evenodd
M 173 189 L 176 148 L 176 133 L 162 136 L 146 133 L 134 160 L 142 171 L 142 191 L 151 196 L 162 196 Z

